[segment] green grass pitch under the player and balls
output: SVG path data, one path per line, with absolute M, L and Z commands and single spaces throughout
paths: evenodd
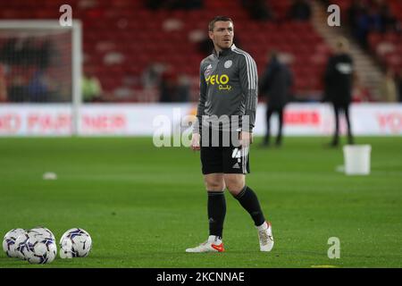
M 29 265 L 2 252 L 0 267 L 402 266 L 402 138 L 356 139 L 373 147 L 370 176 L 336 172 L 342 149 L 324 147 L 330 139 L 260 141 L 247 185 L 272 221 L 272 252 L 259 252 L 251 218 L 227 192 L 226 252 L 187 254 L 208 234 L 199 153 L 150 138 L 0 139 L 2 238 L 44 225 L 56 240 L 73 227 L 93 239 L 85 258 Z M 331 237 L 339 259 L 327 257 Z

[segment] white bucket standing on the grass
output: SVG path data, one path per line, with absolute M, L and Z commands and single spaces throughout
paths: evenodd
M 343 156 L 347 175 L 368 175 L 370 173 L 371 145 L 345 145 Z

